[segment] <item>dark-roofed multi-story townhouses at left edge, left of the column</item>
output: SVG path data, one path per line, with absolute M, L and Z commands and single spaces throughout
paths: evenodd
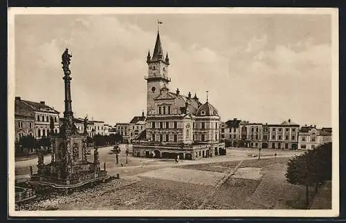
M 22 100 L 15 97 L 15 138 L 33 135 L 40 139 L 47 137 L 50 131 L 51 119 L 54 122 L 54 132 L 59 133 L 59 112 L 47 106 L 44 101 L 39 103 Z

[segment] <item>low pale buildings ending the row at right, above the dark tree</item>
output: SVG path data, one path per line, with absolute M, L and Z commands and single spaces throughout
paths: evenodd
M 299 131 L 298 149 L 311 150 L 327 142 L 331 142 L 331 129 L 317 129 L 316 126 L 302 126 Z

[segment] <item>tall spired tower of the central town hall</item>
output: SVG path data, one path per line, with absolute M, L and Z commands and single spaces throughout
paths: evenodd
M 168 77 L 168 66 L 170 65 L 170 59 L 168 58 L 168 53 L 166 53 L 165 58 L 163 56 L 159 32 L 157 32 L 152 57 L 150 56 L 150 52 L 148 52 L 147 64 L 148 75 L 145 76 L 145 79 L 147 80 L 147 115 L 154 115 L 154 98 L 158 96 L 161 88 L 163 88 L 163 86 L 168 87 L 168 84 L 171 81 L 170 77 Z

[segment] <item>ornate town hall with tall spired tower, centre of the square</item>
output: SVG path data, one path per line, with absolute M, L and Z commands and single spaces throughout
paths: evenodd
M 219 142 L 220 117 L 208 97 L 202 104 L 197 95 L 170 91 L 170 59 L 168 54 L 163 57 L 159 33 L 147 65 L 147 142 L 134 144 L 134 155 L 197 159 L 226 154 L 225 144 Z

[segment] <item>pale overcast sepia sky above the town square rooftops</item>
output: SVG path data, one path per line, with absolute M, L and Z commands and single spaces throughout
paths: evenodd
M 108 124 L 146 111 L 156 20 L 169 88 L 209 101 L 221 119 L 331 126 L 331 17 L 313 14 L 17 15 L 15 95 L 64 112 L 71 58 L 75 117 Z

